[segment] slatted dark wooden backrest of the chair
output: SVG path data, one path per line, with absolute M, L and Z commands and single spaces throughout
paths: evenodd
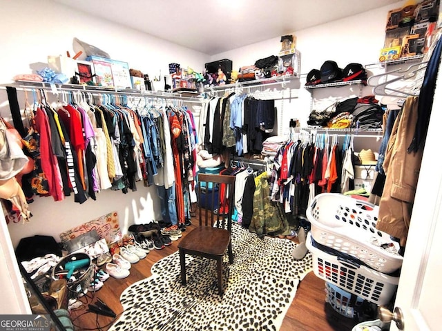
M 200 226 L 215 224 L 231 232 L 234 194 L 235 176 L 198 174 Z M 215 214 L 213 210 L 218 212 Z

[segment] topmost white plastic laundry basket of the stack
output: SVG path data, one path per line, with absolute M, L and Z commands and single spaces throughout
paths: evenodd
M 318 194 L 307 208 L 314 240 L 390 274 L 403 257 L 390 234 L 376 229 L 378 206 L 338 193 Z

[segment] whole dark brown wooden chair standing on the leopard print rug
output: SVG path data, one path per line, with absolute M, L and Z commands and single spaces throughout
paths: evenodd
M 205 185 L 202 183 L 205 183 Z M 209 189 L 206 189 L 209 188 Z M 218 189 L 215 189 L 218 188 Z M 229 263 L 233 263 L 231 244 L 233 195 L 235 194 L 235 177 L 222 174 L 198 175 L 198 201 L 200 209 L 200 226 L 192 230 L 178 243 L 180 251 L 181 283 L 186 285 L 186 254 L 217 261 L 218 294 L 222 295 L 222 258 L 229 252 Z M 214 214 L 220 201 L 227 201 L 228 208 L 224 215 Z M 203 213 L 204 210 L 204 213 Z

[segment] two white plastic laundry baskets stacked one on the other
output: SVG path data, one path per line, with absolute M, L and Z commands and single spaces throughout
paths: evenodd
M 377 305 L 396 292 L 403 257 L 376 229 L 378 206 L 336 193 L 318 194 L 307 210 L 307 248 L 317 277 Z

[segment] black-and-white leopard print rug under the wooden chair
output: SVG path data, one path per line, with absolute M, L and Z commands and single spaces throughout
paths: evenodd
M 216 263 L 186 256 L 187 284 L 180 282 L 177 252 L 158 261 L 152 276 L 122 293 L 124 313 L 109 331 L 279 330 L 311 254 L 291 257 L 293 241 L 258 239 L 233 224 L 233 264 L 224 256 L 224 294 L 218 296 Z

